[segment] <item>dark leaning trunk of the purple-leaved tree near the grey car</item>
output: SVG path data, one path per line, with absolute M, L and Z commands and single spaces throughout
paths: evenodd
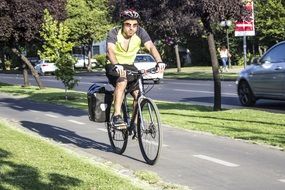
M 208 45 L 211 55 L 213 78 L 214 78 L 214 111 L 220 111 L 221 108 L 221 79 L 219 74 L 219 64 L 217 59 L 215 40 L 213 33 L 208 35 Z

